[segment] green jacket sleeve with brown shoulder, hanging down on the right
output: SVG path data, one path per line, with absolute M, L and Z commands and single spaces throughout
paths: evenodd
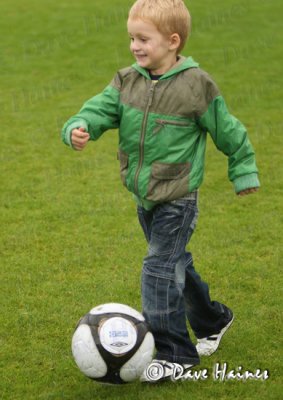
M 205 97 L 200 102 L 202 109 L 198 110 L 198 123 L 210 133 L 217 149 L 228 157 L 228 176 L 236 193 L 259 187 L 255 153 L 247 130 L 229 113 L 223 97 L 207 74 L 202 76 L 202 93 Z

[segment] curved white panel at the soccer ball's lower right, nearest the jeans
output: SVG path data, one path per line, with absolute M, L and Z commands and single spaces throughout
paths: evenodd
M 123 381 L 131 382 L 141 376 L 145 368 L 152 361 L 154 348 L 153 335 L 151 332 L 147 332 L 139 349 L 120 370 L 120 377 Z

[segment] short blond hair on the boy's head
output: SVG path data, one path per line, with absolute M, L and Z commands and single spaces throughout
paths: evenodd
M 182 0 L 137 0 L 129 11 L 129 19 L 152 22 L 164 35 L 177 33 L 181 42 L 178 51 L 186 44 L 191 30 L 191 16 Z

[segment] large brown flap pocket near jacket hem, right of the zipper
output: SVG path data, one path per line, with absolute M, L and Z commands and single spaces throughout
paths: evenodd
M 189 173 L 189 162 L 152 164 L 147 200 L 165 202 L 185 196 L 189 191 Z

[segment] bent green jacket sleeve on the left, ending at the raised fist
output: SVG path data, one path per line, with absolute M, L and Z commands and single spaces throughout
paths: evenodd
M 108 129 L 119 127 L 120 91 L 113 80 L 102 93 L 88 100 L 78 114 L 71 117 L 63 126 L 62 140 L 72 146 L 71 133 L 75 128 L 85 128 L 91 140 L 97 140 Z

